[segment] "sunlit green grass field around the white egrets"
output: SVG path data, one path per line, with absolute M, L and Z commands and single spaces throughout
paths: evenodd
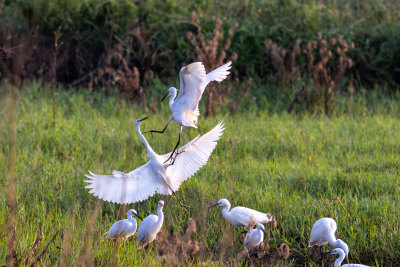
M 4 265 L 12 108 L 7 97 L 0 101 L 0 265 Z M 332 117 L 262 110 L 200 117 L 198 130 L 184 129 L 183 143 L 220 120 L 226 130 L 207 165 L 177 192 L 190 207 L 187 211 L 173 196 L 156 195 L 120 206 L 100 201 L 84 188 L 87 170 L 127 172 L 147 161 L 134 122 L 149 115 L 142 130 L 161 129 L 170 114 L 167 103 L 152 114 L 136 104 L 121 105 L 115 96 L 60 91 L 55 129 L 49 89 L 38 84 L 24 88 L 17 103 L 15 250 L 21 261 L 40 232 L 43 240 L 28 262 L 59 232 L 41 257 L 43 265 L 161 265 L 155 243 L 138 250 L 136 236 L 115 244 L 104 242 L 103 233 L 129 208 L 144 217 L 155 213 L 163 199 L 166 233 L 182 235 L 190 218 L 197 221 L 200 250 L 191 263 L 240 264 L 244 262 L 238 259 L 244 239 L 241 229 L 227 225 L 220 208 L 206 208 L 227 198 L 232 206 L 276 216 L 278 225 L 269 230 L 267 254 L 287 243 L 290 257 L 282 261 L 288 266 L 316 265 L 312 257 L 317 249 L 307 249 L 307 244 L 313 223 L 324 216 L 337 221 L 336 235 L 349 245 L 350 262 L 400 264 L 400 121 L 398 112 L 379 111 L 390 106 L 386 102 L 374 103 L 377 111 L 370 112 L 372 105 L 354 101 L 355 112 Z M 177 133 L 172 124 L 166 134 L 148 140 L 157 153 L 167 153 Z

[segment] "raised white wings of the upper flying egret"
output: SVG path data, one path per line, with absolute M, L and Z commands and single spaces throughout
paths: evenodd
M 179 72 L 180 90 L 175 103 L 184 105 L 185 109 L 195 111 L 207 84 L 221 82 L 229 75 L 232 62 L 213 70 L 206 75 L 203 63 L 195 62 L 183 67 Z

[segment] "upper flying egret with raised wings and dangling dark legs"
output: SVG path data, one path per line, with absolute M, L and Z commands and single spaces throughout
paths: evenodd
M 173 120 L 179 124 L 178 142 L 165 162 L 172 159 L 173 154 L 179 146 L 182 127 L 197 128 L 197 117 L 200 115 L 199 101 L 206 86 L 212 81 L 223 81 L 229 75 L 231 65 L 232 62 L 229 61 L 225 65 L 222 65 L 207 74 L 203 63 L 201 62 L 189 64 L 181 69 L 179 72 L 180 89 L 178 97 L 175 99 L 177 90 L 175 87 L 171 87 L 168 89 L 168 93 L 161 100 L 163 101 L 166 97 L 171 96 L 169 99 L 169 108 L 173 113 L 172 116 L 169 118 L 167 125 L 165 125 L 162 131 L 150 130 L 146 132 L 164 133 L 165 129 L 167 129 L 168 125 Z M 175 159 L 172 161 L 172 164 L 174 164 Z

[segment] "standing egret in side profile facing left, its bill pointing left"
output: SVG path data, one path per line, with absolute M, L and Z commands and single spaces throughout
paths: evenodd
M 225 198 L 220 199 L 215 205 L 208 208 L 218 206 L 224 207 L 222 209 L 222 217 L 235 226 L 249 227 L 250 222 L 255 224 L 269 223 L 274 219 L 271 213 L 262 213 L 245 207 L 234 207 L 229 211 L 231 203 Z

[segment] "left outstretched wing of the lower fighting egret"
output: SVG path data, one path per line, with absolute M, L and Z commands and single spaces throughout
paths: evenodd
M 127 174 L 119 171 L 113 171 L 112 175 L 89 173 L 86 176 L 90 180 L 85 181 L 89 183 L 85 187 L 91 189 L 89 193 L 119 204 L 143 201 L 162 186 L 149 162 Z

